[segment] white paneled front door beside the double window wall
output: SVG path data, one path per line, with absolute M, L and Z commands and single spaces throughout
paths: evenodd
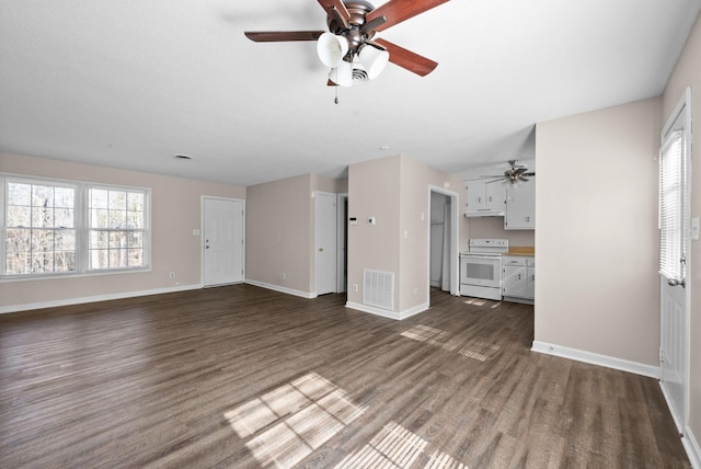
M 204 198 L 205 286 L 243 282 L 243 201 Z

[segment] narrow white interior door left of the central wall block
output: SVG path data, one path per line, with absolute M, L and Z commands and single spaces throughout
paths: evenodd
M 336 291 L 336 195 L 317 192 L 317 295 Z

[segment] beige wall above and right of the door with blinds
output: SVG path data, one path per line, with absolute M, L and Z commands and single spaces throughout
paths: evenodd
M 669 79 L 664 94 L 664 114 L 666 119 L 687 87 L 692 87 L 691 114 L 694 123 L 701 118 L 701 20 L 687 39 L 685 49 Z M 701 126 L 692 124 L 694 145 L 692 147 L 691 216 L 701 217 Z M 697 445 L 701 445 L 701 242 L 691 241 L 691 361 L 689 426 Z M 699 446 L 697 446 L 699 447 Z M 701 458 L 701 455 L 698 455 Z

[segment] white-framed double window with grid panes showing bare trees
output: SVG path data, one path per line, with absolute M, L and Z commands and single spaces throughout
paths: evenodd
M 0 174 L 0 278 L 150 266 L 150 191 Z

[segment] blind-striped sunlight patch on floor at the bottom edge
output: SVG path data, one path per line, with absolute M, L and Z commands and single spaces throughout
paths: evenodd
M 468 469 L 444 453 L 426 453 L 427 446 L 428 442 L 421 436 L 390 422 L 367 445 L 346 456 L 336 468 Z

